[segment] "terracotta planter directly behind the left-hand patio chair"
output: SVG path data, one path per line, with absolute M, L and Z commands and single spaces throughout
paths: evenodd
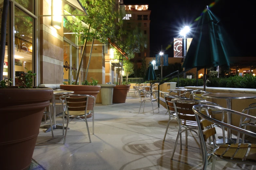
M 100 86 L 84 86 L 84 85 L 60 85 L 60 89 L 62 90 L 68 90 L 68 91 L 74 91 L 73 94 L 87 94 L 92 95 L 95 98 L 97 98 L 97 95 L 100 90 Z M 96 101 L 96 100 L 95 100 Z M 88 100 L 87 109 L 92 110 L 93 109 L 93 99 L 90 98 Z M 93 115 L 88 115 L 86 118 L 91 118 Z

